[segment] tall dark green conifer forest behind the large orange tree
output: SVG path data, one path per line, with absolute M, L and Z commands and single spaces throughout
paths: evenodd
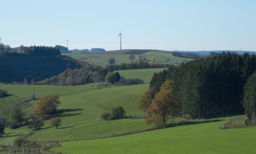
M 244 84 L 255 68 L 255 55 L 224 52 L 155 73 L 150 88 L 154 96 L 161 85 L 171 79 L 182 114 L 193 118 L 242 114 Z

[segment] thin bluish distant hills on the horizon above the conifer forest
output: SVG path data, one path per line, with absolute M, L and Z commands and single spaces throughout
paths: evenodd
M 237 54 L 255 54 L 254 51 L 245 51 L 245 50 L 200 50 L 200 51 L 180 51 L 175 50 L 175 52 L 188 52 L 188 53 L 195 53 L 195 54 L 201 54 L 203 56 L 209 56 L 211 52 L 221 53 L 221 52 L 236 52 Z

